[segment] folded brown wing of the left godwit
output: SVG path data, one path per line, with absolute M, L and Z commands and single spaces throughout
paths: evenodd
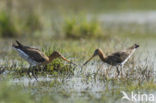
M 31 59 L 39 63 L 45 62 L 48 59 L 44 53 L 36 48 L 26 47 L 21 48 L 21 50 L 25 52 Z

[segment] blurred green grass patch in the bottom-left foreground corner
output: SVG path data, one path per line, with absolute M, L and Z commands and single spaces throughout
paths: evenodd
M 30 93 L 24 92 L 20 86 L 10 86 L 9 83 L 1 81 L 0 90 L 1 103 L 33 103 Z

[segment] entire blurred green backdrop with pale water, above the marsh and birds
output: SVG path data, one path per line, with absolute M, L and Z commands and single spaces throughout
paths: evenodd
M 0 36 L 155 37 L 155 4 L 155 0 L 0 0 Z

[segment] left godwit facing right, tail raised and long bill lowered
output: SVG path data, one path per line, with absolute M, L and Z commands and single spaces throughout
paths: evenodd
M 17 45 L 13 44 L 12 47 L 15 48 L 18 54 L 30 64 L 30 67 L 46 65 L 56 58 L 61 58 L 69 63 L 72 63 L 57 51 L 54 51 L 50 56 L 46 56 L 39 49 L 24 46 L 17 40 L 16 43 Z

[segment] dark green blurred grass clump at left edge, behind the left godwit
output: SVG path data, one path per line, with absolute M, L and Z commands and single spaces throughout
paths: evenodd
M 33 11 L 22 17 L 6 10 L 0 11 L 0 37 L 15 38 L 21 36 L 35 36 L 42 31 L 40 16 Z M 33 34 L 33 35 L 31 35 Z

